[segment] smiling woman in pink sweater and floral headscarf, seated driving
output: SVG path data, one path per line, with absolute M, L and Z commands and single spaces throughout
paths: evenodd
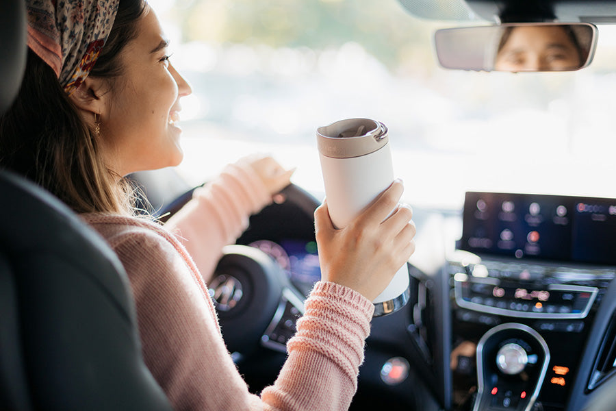
M 415 247 L 411 210 L 396 208 L 402 184 L 394 182 L 345 229 L 333 228 L 326 203 L 316 210 L 322 281 L 306 301 L 279 378 L 251 395 L 201 273 L 211 273 L 222 246 L 291 171 L 271 158 L 243 159 L 196 190 L 165 227 L 136 218 L 123 177 L 181 161 L 179 100 L 190 93 L 169 62 L 153 10 L 142 0 L 27 5 L 27 73 L 0 119 L 0 164 L 60 197 L 116 251 L 136 300 L 144 360 L 174 408 L 348 408 L 371 300 Z

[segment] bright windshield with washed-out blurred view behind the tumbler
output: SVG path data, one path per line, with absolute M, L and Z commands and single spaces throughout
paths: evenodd
M 447 71 L 435 29 L 387 1 L 150 1 L 192 84 L 182 99 L 192 184 L 254 152 L 324 192 L 315 131 L 354 117 L 389 127 L 405 201 L 459 210 L 464 192 L 616 197 L 616 30 L 599 27 L 589 69 Z M 474 22 L 477 23 L 477 22 Z

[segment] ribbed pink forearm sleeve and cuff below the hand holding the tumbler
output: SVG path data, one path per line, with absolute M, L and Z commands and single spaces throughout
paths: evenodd
M 318 282 L 287 343 L 289 356 L 261 397 L 272 410 L 346 410 L 357 390 L 374 305 L 359 292 Z

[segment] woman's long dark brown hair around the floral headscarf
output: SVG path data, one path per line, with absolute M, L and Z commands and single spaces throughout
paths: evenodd
M 114 79 L 122 73 L 118 55 L 136 38 L 145 8 L 143 0 L 120 0 L 91 76 Z M 105 166 L 94 130 L 53 69 L 31 50 L 19 94 L 0 117 L 0 168 L 40 184 L 75 212 L 131 213 L 129 183 Z

